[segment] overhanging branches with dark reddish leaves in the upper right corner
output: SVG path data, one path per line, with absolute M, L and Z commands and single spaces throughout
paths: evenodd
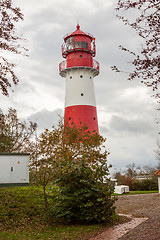
M 160 98 L 160 1 L 159 0 L 118 0 L 116 10 L 123 13 L 132 10 L 130 19 L 123 15 L 117 17 L 129 25 L 142 39 L 141 47 L 137 52 L 120 46 L 133 56 L 131 61 L 134 67 L 129 73 L 128 80 L 139 78 L 147 87 L 151 87 L 154 96 Z M 135 17 L 134 17 L 135 16 Z M 119 72 L 117 66 L 112 67 Z

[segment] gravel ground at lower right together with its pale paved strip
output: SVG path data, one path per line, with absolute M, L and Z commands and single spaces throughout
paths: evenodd
M 90 240 L 160 240 L 160 194 L 119 196 L 116 211 L 132 215 L 132 221 L 109 228 Z

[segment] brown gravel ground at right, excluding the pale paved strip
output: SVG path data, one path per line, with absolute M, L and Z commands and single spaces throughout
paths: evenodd
M 160 194 L 120 196 L 116 207 L 118 213 L 148 218 L 119 239 L 160 240 Z

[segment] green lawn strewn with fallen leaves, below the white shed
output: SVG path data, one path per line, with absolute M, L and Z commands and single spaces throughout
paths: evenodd
M 49 199 L 50 206 L 54 204 L 52 199 Z M 42 188 L 0 188 L 1 240 L 87 240 L 105 228 L 102 224 L 49 226 L 45 218 Z

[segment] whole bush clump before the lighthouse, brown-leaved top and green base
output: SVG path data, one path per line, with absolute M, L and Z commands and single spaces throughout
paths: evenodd
M 108 152 L 105 139 L 59 122 L 37 138 L 37 151 L 31 155 L 31 171 L 43 186 L 48 218 L 60 222 L 111 222 L 115 217 L 108 178 Z M 58 186 L 55 205 L 49 206 L 46 186 Z

